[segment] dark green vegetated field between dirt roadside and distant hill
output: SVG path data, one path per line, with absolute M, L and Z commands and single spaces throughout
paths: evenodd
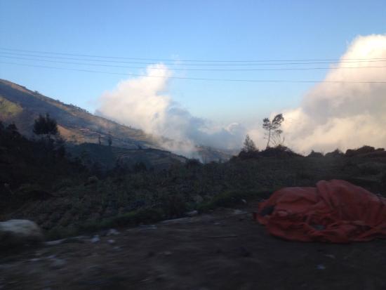
M 190 159 L 159 168 L 135 159 L 136 154 L 151 157 L 150 149 L 131 152 L 84 144 L 71 150 L 73 156 L 55 142 L 29 140 L 14 124 L 0 123 L 0 220 L 34 220 L 54 239 L 178 218 L 192 210 L 239 207 L 267 198 L 280 187 L 313 186 L 321 179 L 346 179 L 386 193 L 385 162 L 361 157 L 378 158 L 385 152 L 369 147 L 302 157 L 277 146 L 241 151 L 229 162 Z M 101 172 L 89 162 L 93 154 L 100 164 L 117 156 L 135 163 L 118 163 Z

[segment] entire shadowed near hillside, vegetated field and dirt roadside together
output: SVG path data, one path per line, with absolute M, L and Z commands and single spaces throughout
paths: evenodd
M 286 289 L 284 280 L 294 289 L 385 288 L 384 240 L 286 242 L 252 219 L 274 190 L 321 179 L 350 180 L 385 195 L 382 149 L 302 157 L 272 148 L 229 162 L 189 160 L 98 178 L 56 145 L 0 124 L 0 221 L 32 220 L 48 239 L 24 249 L 1 249 L 0 242 L 1 289 Z M 68 150 L 107 161 L 164 160 L 164 151 L 151 148 L 83 143 Z M 280 279 L 272 280 L 274 273 Z

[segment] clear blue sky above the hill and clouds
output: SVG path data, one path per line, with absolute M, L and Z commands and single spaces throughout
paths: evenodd
M 357 35 L 385 33 L 385 15 L 384 0 L 0 0 L 0 47 L 182 60 L 335 59 Z M 143 72 L 15 60 L 4 58 L 5 52 L 0 50 L 0 61 Z M 186 66 L 171 66 L 172 71 L 173 67 Z M 174 72 L 177 77 L 287 80 L 321 80 L 325 74 L 325 70 Z M 0 63 L 0 78 L 93 112 L 95 100 L 128 77 Z M 296 107 L 312 85 L 172 79 L 168 93 L 194 116 L 220 123 L 248 122 Z

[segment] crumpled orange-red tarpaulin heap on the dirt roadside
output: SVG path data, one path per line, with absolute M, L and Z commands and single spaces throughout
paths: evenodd
M 286 187 L 260 202 L 256 219 L 274 236 L 302 242 L 386 237 L 386 198 L 345 180 Z

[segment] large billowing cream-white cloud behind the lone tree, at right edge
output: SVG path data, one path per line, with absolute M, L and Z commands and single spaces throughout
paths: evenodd
M 386 34 L 354 39 L 324 79 L 342 83 L 317 84 L 300 107 L 283 112 L 286 145 L 303 153 L 385 147 L 386 84 L 360 83 L 386 81 L 385 60 Z M 261 138 L 262 132 L 251 131 L 251 135 Z

